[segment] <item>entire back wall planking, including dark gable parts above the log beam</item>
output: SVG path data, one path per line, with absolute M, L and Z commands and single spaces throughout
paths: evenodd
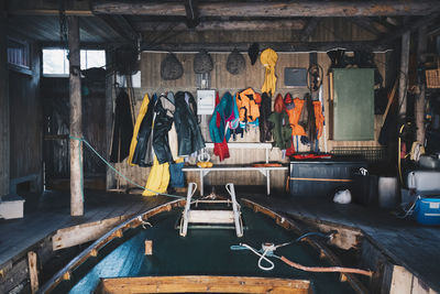
M 148 41 L 154 37 L 154 33 L 145 33 L 144 40 Z M 300 31 L 267 31 L 267 32 L 250 32 L 250 31 L 205 31 L 205 32 L 182 32 L 174 35 L 172 39 L 164 41 L 165 43 L 235 43 L 235 42 L 298 42 L 301 37 Z M 311 42 L 344 42 L 344 41 L 371 41 L 375 36 L 369 31 L 353 24 L 350 21 L 343 20 L 342 18 L 328 18 L 321 20 L 316 30 L 310 34 L 309 40 Z M 264 48 L 261 48 L 264 50 Z M 211 72 L 211 84 L 212 89 L 217 89 L 222 96 L 226 91 L 234 94 L 240 89 L 252 87 L 257 91 L 261 91 L 261 87 L 264 81 L 264 67 L 260 59 L 255 65 L 251 65 L 248 57 L 248 53 L 243 53 L 246 61 L 246 69 L 240 75 L 231 75 L 226 69 L 226 62 L 228 54 L 226 53 L 210 53 L 215 63 L 215 68 Z M 141 61 L 141 88 L 136 89 L 138 105 L 136 109 L 140 108 L 143 95 L 148 92 L 162 92 L 162 91 L 174 91 L 188 90 L 196 95 L 196 76 L 193 69 L 194 55 L 191 53 L 177 53 L 177 58 L 184 65 L 184 75 L 177 80 L 163 80 L 161 78 L 161 62 L 166 56 L 166 53 L 157 52 L 143 52 Z M 380 62 L 377 66 L 381 74 L 385 70 L 385 54 L 376 54 L 376 59 Z M 326 53 L 318 53 L 318 63 L 322 66 L 324 74 L 327 75 L 330 66 L 330 59 Z M 276 76 L 277 88 L 276 92 L 280 92 L 283 96 L 286 92 L 290 92 L 294 97 L 304 98 L 305 92 L 308 91 L 306 87 L 302 88 L 289 88 L 284 86 L 284 68 L 285 67 L 304 67 L 309 66 L 309 53 L 278 53 L 278 62 L 276 64 Z M 323 81 L 324 99 L 328 99 L 328 80 L 327 76 Z M 275 97 L 273 97 L 274 101 Z M 326 102 L 326 115 L 328 113 L 328 104 Z M 139 111 L 139 110 L 136 110 Z M 208 132 L 208 122 L 210 116 L 202 116 L 200 128 L 206 141 L 210 141 Z M 375 118 L 375 130 L 377 139 L 380 126 L 382 124 L 382 117 Z M 326 116 L 326 126 L 329 126 L 329 118 Z M 329 130 L 327 130 L 329 134 Z M 258 129 L 251 129 L 243 139 L 239 139 L 238 142 L 258 142 Z M 333 146 L 376 146 L 377 140 L 374 141 L 327 141 L 328 151 Z M 323 151 L 323 140 L 319 142 L 320 150 Z M 299 144 L 299 151 L 308 151 L 309 148 Z M 212 151 L 210 151 L 212 154 Z M 231 157 L 220 163 L 217 156 L 211 156 L 215 164 L 250 164 L 253 162 L 262 162 L 265 160 L 263 150 L 230 150 Z M 282 152 L 278 149 L 273 149 L 270 153 L 270 160 L 276 162 L 287 163 L 287 159 L 282 157 Z M 144 185 L 150 168 L 131 167 L 125 162 L 117 164 L 117 167 L 129 177 Z M 276 172 L 272 175 L 273 187 L 284 188 L 286 184 L 287 173 Z M 228 182 L 241 183 L 245 185 L 264 185 L 264 176 L 258 173 L 210 173 L 206 177 L 210 184 L 226 184 Z M 188 174 L 187 181 L 198 182 L 196 174 Z M 124 179 L 120 181 L 120 184 L 127 184 Z

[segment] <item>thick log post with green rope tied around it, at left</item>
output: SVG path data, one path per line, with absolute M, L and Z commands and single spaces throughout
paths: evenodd
M 69 84 L 70 84 L 70 135 L 82 138 L 81 73 L 79 57 L 78 17 L 68 17 Z M 82 199 L 82 144 L 70 139 L 70 215 L 84 215 Z

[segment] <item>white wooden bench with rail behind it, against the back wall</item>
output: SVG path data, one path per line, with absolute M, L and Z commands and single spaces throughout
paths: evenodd
M 268 152 L 272 149 L 271 143 L 229 143 L 229 149 L 265 149 L 266 163 L 268 163 Z M 206 149 L 213 149 L 213 143 L 206 143 Z M 271 194 L 271 171 L 287 171 L 288 166 L 240 166 L 240 165 L 215 165 L 213 167 L 184 167 L 184 172 L 198 172 L 200 176 L 200 196 L 204 196 L 204 177 L 210 172 L 260 172 L 266 177 L 266 192 Z

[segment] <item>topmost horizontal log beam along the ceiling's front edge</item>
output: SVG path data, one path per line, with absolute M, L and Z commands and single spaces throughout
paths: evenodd
M 301 2 L 202 2 L 198 4 L 200 17 L 395 17 L 427 15 L 438 0 L 407 1 L 301 1 Z M 125 2 L 95 1 L 91 10 L 96 14 L 129 15 L 187 15 L 178 2 Z

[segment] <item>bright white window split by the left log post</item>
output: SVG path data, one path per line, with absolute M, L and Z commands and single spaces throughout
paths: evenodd
M 81 69 L 106 66 L 106 51 L 81 50 Z M 59 48 L 43 50 L 43 75 L 67 76 L 69 74 L 69 62 L 67 51 Z

